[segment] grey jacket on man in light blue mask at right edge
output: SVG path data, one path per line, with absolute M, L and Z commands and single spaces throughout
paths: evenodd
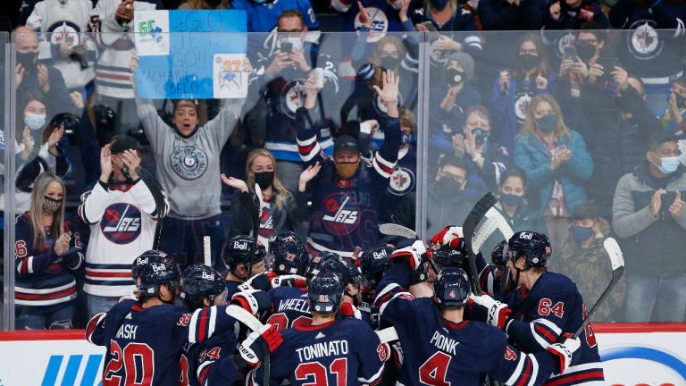
M 657 187 L 648 174 L 648 161 L 624 174 L 617 183 L 612 205 L 612 225 L 622 238 L 626 270 L 629 273 L 667 276 L 686 273 L 686 210 L 674 218 L 665 211 L 650 214 L 650 199 Z M 666 190 L 686 197 L 686 168 L 673 172 Z M 664 206 L 668 207 L 668 206 Z

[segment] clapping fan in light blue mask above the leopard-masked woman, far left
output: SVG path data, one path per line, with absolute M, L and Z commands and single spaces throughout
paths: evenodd
M 23 130 L 17 133 L 17 177 L 14 207 L 16 213 L 29 210 L 31 190 L 41 172 L 54 172 L 63 179 L 71 176 L 71 160 L 65 148 L 64 114 L 46 122 L 43 99 L 31 94 L 23 107 Z M 21 114 L 18 114 L 21 116 Z

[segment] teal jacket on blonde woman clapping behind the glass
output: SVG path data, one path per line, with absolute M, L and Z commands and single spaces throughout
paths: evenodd
M 536 135 L 516 138 L 513 159 L 526 172 L 529 189 L 538 189 L 541 212 L 545 212 L 548 206 L 555 180 L 560 180 L 565 191 L 565 203 L 572 214 L 577 206 L 586 202 L 583 184 L 593 173 L 593 162 L 578 132 L 569 130 L 569 135 L 557 138 L 557 142 L 558 147 L 571 150 L 572 157 L 555 171 L 550 170 L 552 156 Z

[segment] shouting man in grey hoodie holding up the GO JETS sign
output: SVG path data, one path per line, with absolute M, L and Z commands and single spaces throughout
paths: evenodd
M 137 66 L 133 60 L 132 70 Z M 242 71 L 252 71 L 247 59 Z M 160 118 L 151 100 L 137 94 L 136 102 L 138 118 L 155 155 L 157 180 L 169 197 L 170 213 L 163 222 L 160 249 L 182 266 L 202 263 L 202 239 L 210 236 L 213 264 L 221 265 L 218 256 L 227 233 L 220 221 L 219 155 L 245 99 L 224 101 L 220 113 L 202 126 L 195 100 L 174 101 L 172 126 Z

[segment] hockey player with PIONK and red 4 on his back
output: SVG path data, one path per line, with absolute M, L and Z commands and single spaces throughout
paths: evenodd
M 398 385 L 481 385 L 486 374 L 506 385 L 534 385 L 569 365 L 579 340 L 524 354 L 508 345 L 506 335 L 493 326 L 464 321 L 470 290 L 460 268 L 439 273 L 433 298 L 414 299 L 405 288 L 424 252 L 422 241 L 416 241 L 393 253 L 375 302 L 381 321 L 393 324 L 406 348 Z

